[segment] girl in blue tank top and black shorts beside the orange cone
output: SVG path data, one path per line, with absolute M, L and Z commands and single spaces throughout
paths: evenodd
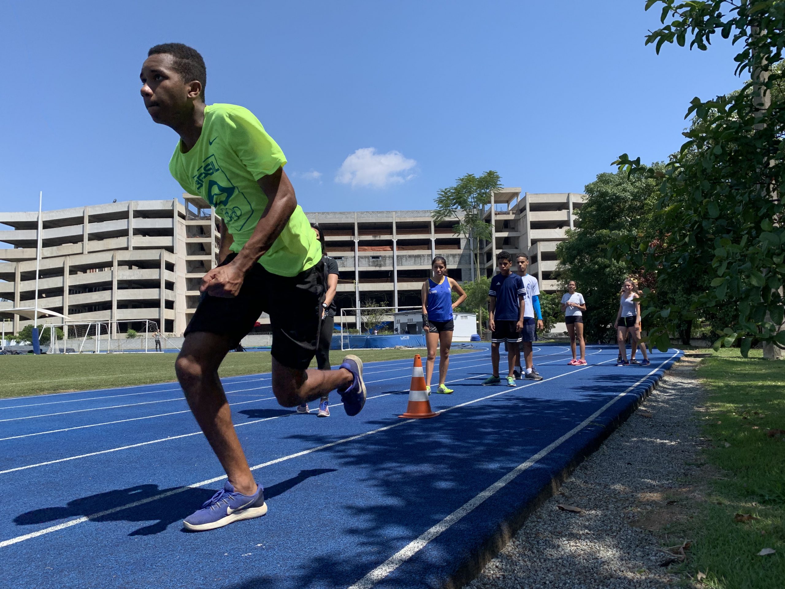
M 447 276 L 447 260 L 443 256 L 433 258 L 431 274 L 432 278 L 422 284 L 422 329 L 425 331 L 425 346 L 428 348 L 428 359 L 425 360 L 425 391 L 431 393 L 433 361 L 436 360 L 436 346 L 439 345 L 439 386 L 436 393 L 448 395 L 453 392 L 445 384 L 447 367 L 450 365 L 452 332 L 455 329 L 452 312 L 466 300 L 466 293 L 460 284 Z M 453 291 L 458 293 L 455 302 L 452 302 Z

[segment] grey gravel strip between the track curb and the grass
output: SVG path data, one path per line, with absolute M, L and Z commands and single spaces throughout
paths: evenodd
M 684 485 L 691 470 L 685 462 L 699 448 L 695 408 L 703 392 L 695 364 L 674 364 L 630 419 L 466 587 L 674 587 L 678 577 L 659 566 L 666 558 L 662 543 L 645 528 L 657 528 L 656 520 L 668 517 L 666 497 Z M 562 511 L 559 503 L 586 511 Z

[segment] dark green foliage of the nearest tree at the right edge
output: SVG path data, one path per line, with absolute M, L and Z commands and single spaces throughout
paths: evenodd
M 772 88 L 783 81 L 785 2 L 674 2 L 661 4 L 663 27 L 646 43 L 659 49 L 676 42 L 708 49 L 713 35 L 739 45 L 736 73 L 750 82 L 739 92 L 709 101 L 692 100 L 687 141 L 658 169 L 624 154 L 616 162 L 630 177 L 659 184 L 656 234 L 638 243 L 619 232 L 609 254 L 656 273 L 658 283 L 676 284 L 705 276 L 708 284 L 689 305 L 652 303 L 666 321 L 663 333 L 701 313 L 734 309 L 715 346 L 740 340 L 742 353 L 753 338 L 785 347 L 783 277 L 785 229 L 780 185 L 785 174 L 785 101 Z M 651 303 L 651 302 L 650 302 Z M 737 312 L 737 313 L 736 313 Z M 659 334 L 661 336 L 662 334 Z

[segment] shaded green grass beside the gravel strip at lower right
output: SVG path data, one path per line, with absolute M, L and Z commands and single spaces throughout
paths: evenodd
M 703 360 L 705 458 L 717 469 L 692 520 L 686 569 L 723 589 L 785 587 L 785 362 L 721 349 Z M 772 433 L 776 430 L 782 433 Z M 758 520 L 734 521 L 736 514 Z M 776 554 L 758 556 L 763 548 Z

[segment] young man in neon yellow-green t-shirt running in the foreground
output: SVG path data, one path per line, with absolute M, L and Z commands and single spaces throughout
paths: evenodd
M 221 361 L 261 313 L 270 316 L 272 391 L 284 407 L 338 389 L 346 413 L 356 415 L 365 403 L 363 364 L 347 356 L 338 370 L 306 370 L 319 338 L 322 254 L 276 142 L 245 108 L 205 105 L 206 68 L 191 47 L 153 47 L 140 77 L 153 121 L 180 136 L 170 172 L 221 218 L 220 263 L 203 276 L 202 299 L 175 364 L 188 406 L 228 477 L 183 524 L 190 530 L 220 528 L 267 513 L 218 378 Z

